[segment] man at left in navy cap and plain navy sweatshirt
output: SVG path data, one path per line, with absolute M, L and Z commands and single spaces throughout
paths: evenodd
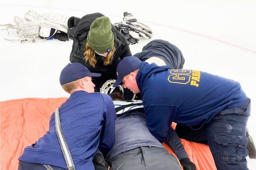
M 61 71 L 61 87 L 70 94 L 59 107 L 61 128 L 76 170 L 94 170 L 92 160 L 97 148 L 106 156 L 115 141 L 116 111 L 112 99 L 107 94 L 94 92 L 92 77 L 100 75 L 76 62 Z M 19 160 L 18 170 L 67 170 L 54 113 L 49 130 L 25 147 Z

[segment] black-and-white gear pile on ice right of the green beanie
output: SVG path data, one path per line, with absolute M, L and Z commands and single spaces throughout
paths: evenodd
M 137 19 L 128 12 L 124 12 L 123 21 L 114 26 L 126 38 L 129 44 L 136 44 L 139 39 L 152 37 L 152 30 L 147 25 L 137 22 Z

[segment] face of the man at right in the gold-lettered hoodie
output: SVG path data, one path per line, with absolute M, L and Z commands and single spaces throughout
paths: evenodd
M 123 78 L 122 82 L 124 84 L 124 88 L 130 89 L 134 94 L 140 93 L 140 89 L 136 82 L 136 74 L 128 74 Z

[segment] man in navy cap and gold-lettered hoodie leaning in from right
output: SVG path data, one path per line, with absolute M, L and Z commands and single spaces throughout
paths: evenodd
M 160 142 L 176 122 L 188 127 L 183 133 L 193 133 L 209 145 L 218 170 L 248 170 L 250 99 L 239 82 L 130 56 L 117 65 L 113 87 L 121 83 L 141 93 L 148 129 Z

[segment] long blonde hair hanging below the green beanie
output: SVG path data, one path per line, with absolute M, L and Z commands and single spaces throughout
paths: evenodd
M 116 48 L 113 47 L 111 51 L 108 52 L 106 57 L 103 57 L 104 65 L 110 65 L 110 63 L 113 60 L 114 53 L 116 51 Z M 96 63 L 98 60 L 96 59 L 95 52 L 90 47 L 88 42 L 85 43 L 85 50 L 84 50 L 84 62 L 89 62 L 93 68 L 95 68 Z

